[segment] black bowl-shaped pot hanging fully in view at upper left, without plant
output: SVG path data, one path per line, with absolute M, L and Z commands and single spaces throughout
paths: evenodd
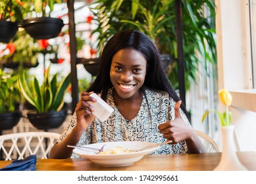
M 36 17 L 23 20 L 22 27 L 34 39 L 50 39 L 57 37 L 63 28 L 61 18 Z

